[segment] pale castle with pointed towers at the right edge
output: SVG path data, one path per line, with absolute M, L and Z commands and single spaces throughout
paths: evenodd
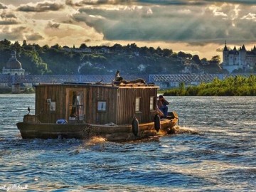
M 234 47 L 228 50 L 227 43 L 223 49 L 223 63 L 222 67 L 233 73 L 234 70 L 241 72 L 251 72 L 256 65 L 256 46 L 250 51 L 246 50 L 245 45 L 240 48 Z

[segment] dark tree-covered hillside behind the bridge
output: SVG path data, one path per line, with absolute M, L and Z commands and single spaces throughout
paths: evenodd
M 212 65 L 206 73 L 220 73 L 220 56 L 211 60 L 200 59 L 182 51 L 175 53 L 171 49 L 160 47 L 138 47 L 136 43 L 122 46 L 86 46 L 78 48 L 60 46 L 39 46 L 18 41 L 11 43 L 0 41 L 0 67 L 3 68 L 10 58 L 11 50 L 16 50 L 16 57 L 22 68 L 30 75 L 78 75 L 78 74 L 113 74 L 121 70 L 123 74 L 170 74 L 181 73 L 186 63 L 192 66 L 192 73 L 201 73 L 203 65 Z

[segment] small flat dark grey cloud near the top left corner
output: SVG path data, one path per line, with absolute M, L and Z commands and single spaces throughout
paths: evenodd
M 24 11 L 24 12 L 45 12 L 45 11 L 58 11 L 60 9 L 63 9 L 63 4 L 57 4 L 57 3 L 38 3 L 33 5 L 25 5 L 25 6 L 19 6 L 17 11 Z

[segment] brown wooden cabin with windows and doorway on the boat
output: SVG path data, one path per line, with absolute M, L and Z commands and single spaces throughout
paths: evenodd
M 42 123 L 131 124 L 152 122 L 156 112 L 154 85 L 53 84 L 36 86 L 36 116 Z

